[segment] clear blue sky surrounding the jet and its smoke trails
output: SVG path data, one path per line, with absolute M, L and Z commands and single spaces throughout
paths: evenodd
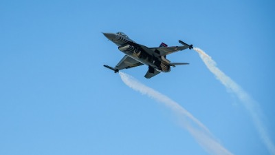
M 275 143 L 274 1 L 1 1 L 0 154 L 207 154 L 165 106 L 103 68 L 122 58 L 101 32 L 201 48 L 259 103 Z M 250 115 L 193 50 L 145 79 L 233 154 L 268 154 Z

